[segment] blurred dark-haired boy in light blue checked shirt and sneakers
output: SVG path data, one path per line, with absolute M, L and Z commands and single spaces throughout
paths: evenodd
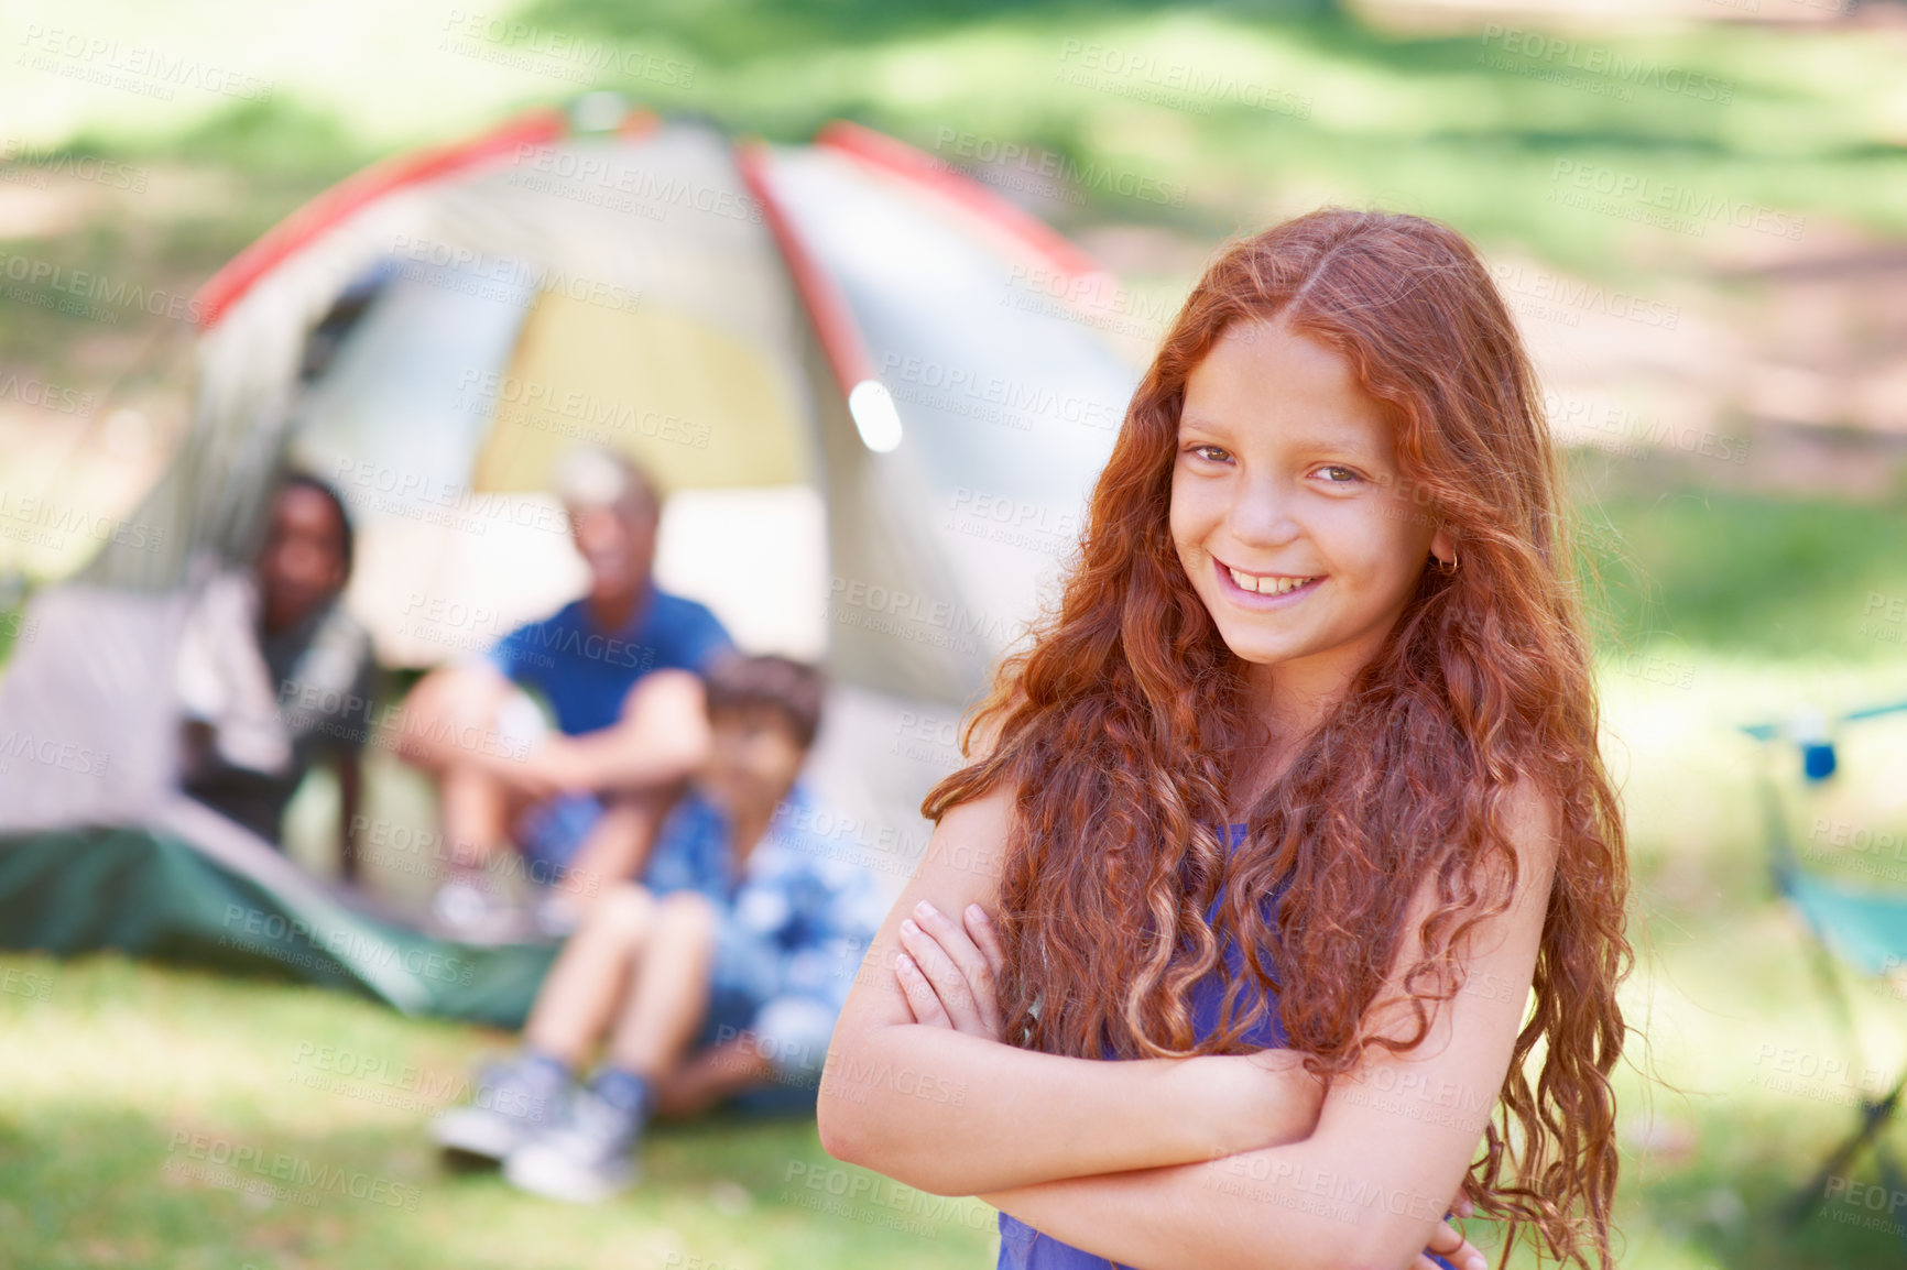
M 656 1112 L 820 1081 L 835 1016 L 883 906 L 818 839 L 799 778 L 822 677 L 734 656 L 707 677 L 711 748 L 658 833 L 645 885 L 595 904 L 563 948 L 521 1053 L 484 1096 L 433 1125 L 439 1144 L 503 1161 L 513 1184 L 603 1199 L 635 1180 Z M 585 1085 L 576 1074 L 606 1041 Z

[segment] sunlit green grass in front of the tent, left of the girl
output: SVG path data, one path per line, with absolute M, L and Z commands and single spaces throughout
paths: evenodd
M 425 1142 L 429 1112 L 456 1100 L 471 1060 L 502 1035 L 116 955 L 6 955 L 0 982 L 10 1266 L 988 1260 L 990 1211 L 831 1161 L 810 1119 L 660 1125 L 633 1194 L 570 1209 L 496 1173 L 448 1173 Z

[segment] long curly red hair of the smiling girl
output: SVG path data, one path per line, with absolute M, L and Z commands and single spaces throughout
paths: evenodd
M 1245 664 L 1192 589 L 1167 513 L 1186 378 L 1234 322 L 1270 318 L 1339 351 L 1386 408 L 1409 502 L 1453 536 L 1459 568 L 1425 570 L 1228 858 L 1224 791 L 1253 734 Z M 1133 395 L 1056 606 L 995 666 L 961 734 L 967 767 L 921 812 L 938 820 L 1003 780 L 1018 791 L 999 898 L 1015 1045 L 1236 1053 L 1276 986 L 1289 1047 L 1331 1077 L 1367 1045 L 1411 1049 L 1428 1032 L 1465 934 L 1507 904 L 1507 801 L 1533 782 L 1560 812 L 1533 1011 L 1465 1192 L 1508 1220 L 1505 1257 L 1535 1232 L 1587 1270 L 1590 1251 L 1610 1260 L 1629 866 L 1541 400 L 1503 297 L 1455 231 L 1329 208 L 1234 242 Z M 982 727 L 994 746 L 974 761 Z M 1425 877 L 1440 904 L 1405 978 L 1417 1032 L 1373 1035 L 1369 1007 Z M 1264 904 L 1280 881 L 1283 902 Z M 1186 992 L 1220 965 L 1226 934 L 1245 976 L 1200 1039 Z

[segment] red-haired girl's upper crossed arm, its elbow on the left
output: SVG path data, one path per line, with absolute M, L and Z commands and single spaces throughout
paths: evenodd
M 946 921 L 915 915 L 921 900 L 955 921 L 969 904 L 995 910 L 1011 814 L 1011 789 L 950 809 L 881 923 L 822 1072 L 826 1150 L 919 1190 L 971 1196 L 1302 1138 L 1322 1087 L 1289 1051 L 1097 1062 L 1015 1049 L 980 1013 L 994 1009 L 990 982 L 948 993 L 952 1028 L 913 1022 L 894 978 L 902 923 Z

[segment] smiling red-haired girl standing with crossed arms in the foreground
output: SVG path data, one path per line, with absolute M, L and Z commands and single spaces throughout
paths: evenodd
M 1608 1266 L 1629 879 L 1556 500 L 1459 235 L 1226 250 L 921 807 L 826 1148 L 995 1205 L 1001 1266 L 1480 1266 L 1472 1203 Z

